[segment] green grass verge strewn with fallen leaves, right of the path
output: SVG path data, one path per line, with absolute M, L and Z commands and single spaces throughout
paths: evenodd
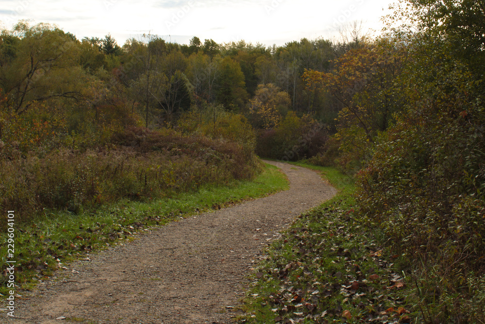
M 411 323 L 409 284 L 354 213 L 353 180 L 321 171 L 339 194 L 302 214 L 261 257 L 242 323 Z M 389 261 L 390 260 L 390 261 Z

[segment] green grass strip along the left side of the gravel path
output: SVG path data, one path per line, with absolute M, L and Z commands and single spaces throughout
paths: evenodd
M 137 231 L 148 226 L 163 225 L 288 188 L 286 176 L 266 164 L 253 181 L 203 187 L 198 192 L 182 193 L 169 199 L 148 203 L 123 200 L 80 215 L 46 211 L 34 222 L 15 225 L 16 285 L 30 290 L 38 280 L 51 275 L 65 262 L 87 252 L 102 250 L 119 240 L 133 239 Z M 2 233 L 0 239 L 6 242 L 6 233 Z M 6 254 L 7 245 L 3 244 L 0 249 L 3 264 Z M 0 293 L 7 295 L 10 289 L 6 288 L 6 279 L 3 280 Z

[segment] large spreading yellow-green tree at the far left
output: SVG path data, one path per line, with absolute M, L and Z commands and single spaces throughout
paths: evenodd
M 0 87 L 22 113 L 35 101 L 81 98 L 79 42 L 48 24 L 19 22 L 1 34 Z

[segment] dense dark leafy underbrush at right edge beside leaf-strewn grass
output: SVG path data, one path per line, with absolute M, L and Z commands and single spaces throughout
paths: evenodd
M 397 123 L 356 176 L 359 215 L 406 260 L 420 323 L 485 323 L 483 108 L 471 111 Z

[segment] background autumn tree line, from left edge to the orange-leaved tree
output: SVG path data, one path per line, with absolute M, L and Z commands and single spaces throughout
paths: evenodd
M 197 37 L 180 45 L 144 34 L 119 46 L 111 35 L 78 40 L 49 24 L 20 21 L 2 31 L 0 87 L 6 114 L 41 111 L 49 130 L 82 140 L 135 124 L 177 128 L 194 109 L 242 114 L 256 129 L 274 129 L 289 111 L 334 124 L 338 101 L 308 89 L 302 76 L 329 71 L 355 45 L 304 38 L 265 47 Z M 20 137 L 25 149 L 40 140 Z

